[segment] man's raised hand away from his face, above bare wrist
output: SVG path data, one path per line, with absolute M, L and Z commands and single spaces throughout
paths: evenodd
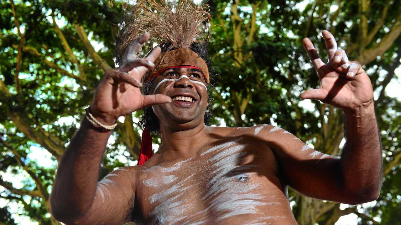
M 328 52 L 328 63 L 324 63 L 309 38 L 302 41 L 310 60 L 318 72 L 320 87 L 306 90 L 302 99 L 318 99 L 334 106 L 356 110 L 373 104 L 373 88 L 365 70 L 356 61 L 348 61 L 344 50 L 337 48 L 334 36 L 322 32 Z

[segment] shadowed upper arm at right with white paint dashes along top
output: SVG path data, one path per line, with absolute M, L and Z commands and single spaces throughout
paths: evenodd
M 315 151 L 279 127 L 265 125 L 259 135 L 272 149 L 286 183 L 292 188 L 318 199 L 348 201 L 340 157 Z

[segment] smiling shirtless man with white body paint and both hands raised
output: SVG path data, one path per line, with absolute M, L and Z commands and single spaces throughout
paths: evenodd
M 330 32 L 322 35 L 327 64 L 312 42 L 303 40 L 320 88 L 300 97 L 344 110 L 341 157 L 314 151 L 271 125 L 205 125 L 206 62 L 189 50 L 193 43 L 167 47 L 160 57 L 157 47 L 146 58 L 136 58 L 150 37 L 145 33 L 97 87 L 60 162 L 51 195 L 53 216 L 67 224 L 296 224 L 287 185 L 310 197 L 347 204 L 377 199 L 382 160 L 371 82 L 358 62 L 348 61 L 337 49 Z M 170 57 L 174 54 L 176 59 Z M 163 64 L 165 59 L 170 64 Z M 142 95 L 143 85 L 149 94 Z M 157 116 L 150 129 L 160 130 L 162 145 L 143 165 L 117 169 L 98 182 L 112 125 L 119 116 L 146 107 Z

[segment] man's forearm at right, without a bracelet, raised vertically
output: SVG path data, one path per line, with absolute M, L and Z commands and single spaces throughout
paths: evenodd
M 381 139 L 373 103 L 345 113 L 346 144 L 341 165 L 344 191 L 372 201 L 382 181 Z

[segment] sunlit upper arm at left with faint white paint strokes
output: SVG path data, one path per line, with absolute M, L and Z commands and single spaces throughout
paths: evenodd
M 131 222 L 137 169 L 123 167 L 99 181 L 91 209 L 77 224 L 117 225 Z

